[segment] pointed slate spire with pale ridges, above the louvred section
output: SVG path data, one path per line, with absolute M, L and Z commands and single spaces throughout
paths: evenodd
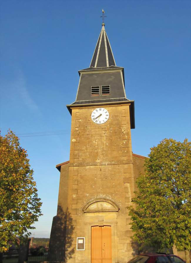
M 105 24 L 102 23 L 102 29 L 93 53 L 90 67 L 101 68 L 110 66 L 116 66 L 116 64 L 108 36 L 105 32 Z

